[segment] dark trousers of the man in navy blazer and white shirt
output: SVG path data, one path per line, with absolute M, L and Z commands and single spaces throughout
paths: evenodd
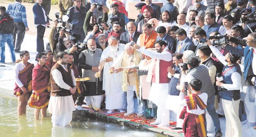
M 44 52 L 44 34 L 45 34 L 45 26 L 38 25 L 37 26 L 37 52 Z

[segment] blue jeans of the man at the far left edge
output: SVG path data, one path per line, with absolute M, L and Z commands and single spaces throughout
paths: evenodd
M 11 50 L 11 59 L 13 60 L 13 62 L 16 61 L 15 58 L 15 51 L 13 49 L 13 34 L 0 34 L 0 50 L 1 50 L 1 63 L 5 63 L 5 59 L 6 59 L 6 54 L 5 54 L 5 47 L 6 47 L 6 42 L 7 45 L 9 46 L 10 50 Z

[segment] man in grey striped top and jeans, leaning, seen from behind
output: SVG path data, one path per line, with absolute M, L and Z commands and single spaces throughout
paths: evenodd
M 202 81 L 201 91 L 208 94 L 206 110 L 208 111 L 211 119 L 213 120 L 213 124 L 215 126 L 215 137 L 221 137 L 221 125 L 219 122 L 218 114 L 216 113 L 214 108 L 215 89 L 213 87 L 213 84 L 211 83 L 208 67 L 206 67 L 206 65 L 199 65 L 199 63 L 200 61 L 198 57 L 191 57 L 187 60 L 187 67 L 189 68 L 189 70 L 185 82 L 190 83 L 192 79 L 199 79 L 200 81 Z M 208 120 L 209 119 L 206 119 L 206 122 Z

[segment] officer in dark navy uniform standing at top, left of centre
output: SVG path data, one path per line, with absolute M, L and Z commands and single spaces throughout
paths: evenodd
M 74 2 L 74 6 L 70 7 L 67 11 L 67 16 L 69 16 L 68 22 L 70 23 L 70 28 L 72 28 L 73 33 L 72 37 L 76 38 L 75 42 L 83 42 L 85 38 L 83 22 L 89 9 L 83 7 L 81 0 L 72 1 Z

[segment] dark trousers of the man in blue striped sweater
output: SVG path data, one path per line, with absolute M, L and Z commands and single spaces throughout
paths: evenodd
M 14 22 L 13 27 L 13 46 L 14 50 L 20 50 L 22 41 L 24 40 L 26 27 L 23 22 Z M 17 38 L 16 38 L 17 36 Z

